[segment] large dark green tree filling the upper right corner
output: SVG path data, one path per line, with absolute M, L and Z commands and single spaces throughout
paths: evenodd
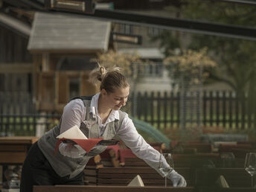
M 167 7 L 167 9 L 176 11 L 184 19 L 248 27 L 256 25 L 256 20 L 254 19 L 256 16 L 256 6 L 220 1 L 180 0 L 179 2 L 179 7 L 175 5 Z M 170 46 L 170 43 L 172 43 L 168 39 L 175 39 L 175 36 L 173 32 L 169 31 L 162 33 L 156 39 L 160 39 L 162 47 L 167 48 L 167 45 Z M 182 50 L 181 45 L 175 45 L 177 45 L 176 48 Z M 247 111 L 249 115 L 252 115 L 254 111 L 256 115 L 256 54 L 254 54 L 256 42 L 220 36 L 191 34 L 191 43 L 188 48 L 199 50 L 205 46 L 208 47 L 209 55 L 218 64 L 217 68 L 208 70 L 209 79 L 226 83 L 234 89 L 237 97 L 240 98 L 240 106 L 243 112 Z M 167 50 L 164 52 L 170 53 Z M 246 95 L 248 95 L 249 106 L 246 106 Z

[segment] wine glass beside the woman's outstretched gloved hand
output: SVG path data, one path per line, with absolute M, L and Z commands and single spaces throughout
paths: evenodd
M 172 171 L 172 169 L 170 169 L 169 167 L 166 167 L 165 162 L 167 162 L 167 164 L 170 165 L 170 167 L 173 168 L 173 156 L 171 153 L 161 153 L 160 157 L 159 157 L 159 172 L 161 174 L 161 176 L 164 176 L 164 187 L 167 187 L 167 176 L 168 173 L 170 173 L 170 171 Z

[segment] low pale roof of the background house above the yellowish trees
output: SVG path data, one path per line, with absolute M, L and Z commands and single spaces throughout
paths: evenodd
M 119 48 L 118 52 L 124 54 L 138 54 L 141 59 L 164 59 L 164 54 L 159 48 Z

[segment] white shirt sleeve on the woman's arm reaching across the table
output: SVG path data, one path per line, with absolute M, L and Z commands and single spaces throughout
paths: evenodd
M 117 134 L 138 158 L 143 159 L 150 167 L 153 167 L 159 172 L 159 159 L 161 154 L 158 150 L 151 147 L 150 144 L 147 144 L 144 138 L 138 133 L 128 115 L 125 116 Z M 164 161 L 164 167 L 170 167 L 170 165 Z

